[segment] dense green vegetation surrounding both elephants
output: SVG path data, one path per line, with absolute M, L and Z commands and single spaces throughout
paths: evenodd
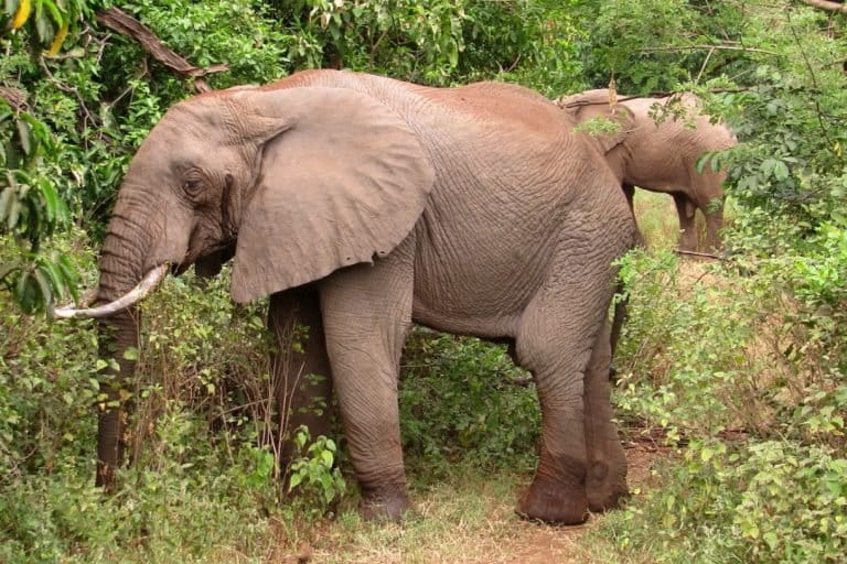
M 135 446 L 111 497 L 92 484 L 95 332 L 37 314 L 94 282 L 135 149 L 192 94 L 97 23 L 106 6 L 0 8 L 0 561 L 272 558 L 269 546 L 293 550 L 326 511 L 354 519 L 355 491 L 332 440 L 293 468 L 300 496 L 277 487 L 262 304 L 234 308 L 226 270 L 202 291 L 191 274 L 171 279 L 146 304 Z M 654 245 L 622 261 L 631 318 L 617 360 L 628 438 L 678 451 L 660 487 L 586 542 L 609 562 L 844 560 L 847 14 L 789 0 L 121 8 L 192 64 L 227 64 L 208 75 L 214 88 L 343 67 L 548 96 L 612 79 L 621 93 L 698 93 L 740 140 L 704 163 L 731 171 L 726 254 L 683 260 L 664 227 L 675 218 L 644 221 Z M 404 367 L 416 491 L 471 468 L 528 476 L 539 415 L 504 350 L 420 330 Z

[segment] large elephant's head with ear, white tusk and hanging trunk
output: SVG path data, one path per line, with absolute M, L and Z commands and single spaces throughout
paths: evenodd
M 232 295 L 246 302 L 386 254 L 417 221 L 433 171 L 406 121 L 352 89 L 285 86 L 178 104 L 136 153 L 100 257 L 99 305 L 56 311 L 105 317 L 118 382 L 133 369 L 121 355 L 138 338 L 131 305 L 168 265 L 207 270 L 234 248 Z M 109 413 L 101 482 L 120 458 Z

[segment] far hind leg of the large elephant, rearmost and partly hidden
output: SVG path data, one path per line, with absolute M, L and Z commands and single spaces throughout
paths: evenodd
M 611 362 L 608 323 L 594 343 L 591 360 L 586 370 L 585 414 L 588 474 L 586 490 L 591 511 L 605 511 L 618 507 L 628 496 L 626 456 L 618 431 L 612 423 L 609 399 L 609 365 Z

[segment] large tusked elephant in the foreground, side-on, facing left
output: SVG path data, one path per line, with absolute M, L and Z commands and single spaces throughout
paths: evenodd
M 572 127 L 539 95 L 498 83 L 438 89 L 312 70 L 194 97 L 130 164 L 96 306 L 56 315 L 101 318 L 118 400 L 133 370 L 121 354 L 138 339 L 132 304 L 167 270 L 214 272 L 234 253 L 236 302 L 270 295 L 282 339 L 310 325 L 298 362 L 331 372 L 361 510 L 392 519 L 409 506 L 397 379 L 411 323 L 510 341 L 544 421 L 518 511 L 582 522 L 626 491 L 607 312 L 612 262 L 635 228 L 602 155 Z M 329 386 L 308 395 L 321 393 Z M 120 463 L 124 420 L 100 414 L 100 484 Z

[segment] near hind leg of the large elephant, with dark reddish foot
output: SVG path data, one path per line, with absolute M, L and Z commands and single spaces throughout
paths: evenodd
M 568 274 L 575 270 L 560 269 L 556 282 L 559 291 L 543 290 L 533 300 L 517 335 L 518 359 L 533 372 L 542 403 L 538 469 L 518 503 L 518 513 L 564 524 L 581 523 L 588 518 L 585 375 L 598 338 L 605 339 L 603 358 L 609 369 L 609 333 L 600 336 L 600 327 L 609 306 L 611 282 L 585 272 Z M 568 283 L 561 278 L 569 279 Z

